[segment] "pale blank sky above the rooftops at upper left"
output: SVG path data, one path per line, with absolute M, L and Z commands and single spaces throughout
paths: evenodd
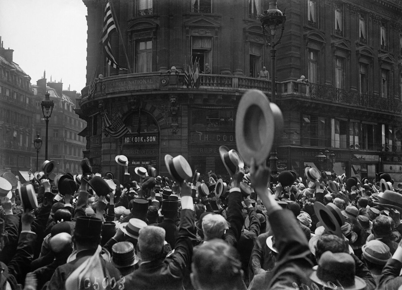
M 87 10 L 82 0 L 1 0 L 0 36 L 31 77 L 81 92 L 86 82 Z

